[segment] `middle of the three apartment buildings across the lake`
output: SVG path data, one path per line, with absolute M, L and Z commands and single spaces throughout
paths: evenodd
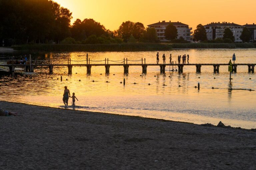
M 243 31 L 244 26 L 229 22 L 212 22 L 204 25 L 208 40 L 214 40 L 217 38 L 223 38 L 225 28 L 230 28 L 235 37 L 235 42 L 242 42 L 240 35 Z

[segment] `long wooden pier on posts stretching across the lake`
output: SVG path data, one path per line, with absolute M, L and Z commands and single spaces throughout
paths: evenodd
M 73 66 L 84 66 L 87 68 L 87 73 L 90 74 L 91 73 L 91 68 L 92 66 L 104 66 L 105 67 L 105 72 L 106 73 L 109 73 L 110 72 L 110 67 L 112 66 L 123 66 L 124 67 L 124 73 L 128 73 L 129 72 L 129 67 L 130 66 L 141 66 L 142 67 L 142 73 L 147 73 L 147 67 L 148 66 L 159 66 L 160 67 L 160 72 L 161 73 L 165 73 L 165 68 L 166 66 L 177 66 L 178 69 L 177 70 L 171 70 L 171 71 L 178 71 L 179 73 L 183 73 L 183 67 L 185 66 L 195 66 L 195 71 L 197 73 L 200 73 L 201 72 L 201 67 L 202 66 L 213 66 L 213 72 L 214 73 L 219 73 L 219 67 L 220 66 L 228 66 L 229 64 L 146 64 L 146 59 L 144 58 L 141 59 L 141 60 L 128 60 L 126 58 L 126 60 L 118 60 L 118 61 L 113 61 L 113 62 L 118 62 L 118 64 L 109 64 L 109 61 L 111 60 L 108 60 L 108 59 L 105 59 L 105 60 L 101 60 L 101 61 L 96 61 L 96 60 L 91 60 L 91 61 L 94 61 L 94 62 L 102 62 L 102 61 L 105 61 L 105 64 L 90 64 L 90 59 L 88 60 L 83 60 L 83 61 L 86 61 L 87 64 L 71 64 L 71 61 L 70 59 L 68 59 L 68 64 L 52 64 L 52 61 L 49 60 L 49 61 L 46 61 L 48 62 L 47 64 L 40 64 L 38 63 L 38 61 L 36 60 L 31 60 L 30 62 L 26 62 L 26 64 L 17 64 L 17 62 L 15 62 L 15 60 L 9 60 L 6 62 L 6 64 L 0 64 L 0 66 L 4 66 L 4 67 L 9 67 L 9 70 L 10 70 L 10 73 L 13 73 L 15 71 L 15 68 L 16 67 L 22 67 L 24 68 L 24 71 L 25 72 L 34 72 L 34 69 L 37 67 L 37 66 L 40 66 L 40 67 L 48 67 L 49 68 L 49 73 L 53 73 L 53 69 L 55 66 L 63 66 L 63 67 L 67 67 L 68 68 L 68 74 L 72 74 L 72 67 Z M 122 61 L 122 62 L 121 62 Z M 134 64 L 134 63 L 131 63 L 131 64 L 128 64 L 128 61 L 141 61 L 141 64 Z M 79 61 L 76 61 L 76 62 L 79 62 Z M 240 64 L 233 64 L 233 72 L 237 72 L 237 66 L 248 66 L 248 72 L 249 73 L 254 73 L 254 67 L 255 67 L 256 64 L 246 64 L 246 63 L 240 63 Z

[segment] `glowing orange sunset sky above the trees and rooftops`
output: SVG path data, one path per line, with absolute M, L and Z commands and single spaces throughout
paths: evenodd
M 73 12 L 75 19 L 93 18 L 116 30 L 123 21 L 144 26 L 165 20 L 193 27 L 210 22 L 256 23 L 256 0 L 54 0 Z

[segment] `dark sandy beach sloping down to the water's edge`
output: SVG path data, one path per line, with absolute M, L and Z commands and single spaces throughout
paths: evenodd
M 0 102 L 0 169 L 256 169 L 256 132 Z M 225 124 L 225 122 L 223 122 Z

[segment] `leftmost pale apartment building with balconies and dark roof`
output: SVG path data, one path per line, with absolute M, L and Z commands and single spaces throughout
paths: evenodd
M 192 41 L 193 39 L 193 36 L 192 36 L 192 28 L 189 28 L 189 26 L 187 24 L 183 24 L 181 22 L 165 22 L 165 21 L 162 21 L 162 22 L 157 22 L 157 23 L 154 23 L 154 24 L 150 24 L 148 25 L 148 28 L 155 28 L 156 29 L 156 35 L 157 37 L 159 38 L 160 41 L 168 41 L 166 38 L 165 38 L 165 29 L 167 27 L 167 25 L 169 24 L 173 24 L 176 28 L 177 28 L 177 31 L 178 31 L 178 36 L 177 38 L 180 38 L 180 37 L 183 37 L 184 40 L 187 40 L 187 41 Z

